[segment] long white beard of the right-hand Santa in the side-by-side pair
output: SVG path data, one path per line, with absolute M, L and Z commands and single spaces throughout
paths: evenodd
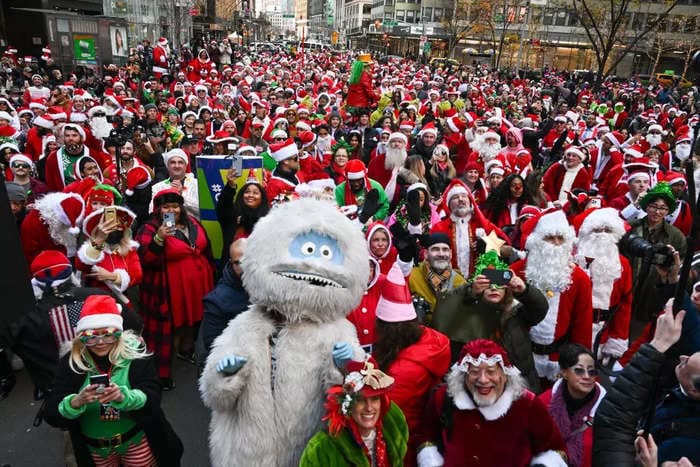
M 588 272 L 593 284 L 593 308 L 610 308 L 613 283 L 622 275 L 622 263 L 613 234 L 592 232 L 579 239 L 579 264 L 585 258 L 593 258 Z

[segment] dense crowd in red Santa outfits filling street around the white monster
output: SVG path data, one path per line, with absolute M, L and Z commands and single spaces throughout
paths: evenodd
M 161 38 L 126 66 L 66 77 L 50 48 L 43 63 L 12 46 L 2 57 L 5 228 L 45 318 L 0 351 L 0 394 L 23 357 L 80 465 L 179 463 L 160 410 L 173 359 L 204 368 L 229 322 L 260 305 L 244 286 L 247 239 L 305 198 L 364 235 L 370 274 L 347 319 L 371 357 L 333 349 L 345 379 L 295 462 L 700 464 L 696 86 L 227 40 L 193 52 Z M 220 252 L 200 212 L 201 155 L 263 161 L 262 179 L 226 175 Z M 316 247 L 299 245 L 332 258 Z M 28 342 L 41 358 L 24 358 Z M 616 429 L 636 433 L 662 400 L 645 435 Z

